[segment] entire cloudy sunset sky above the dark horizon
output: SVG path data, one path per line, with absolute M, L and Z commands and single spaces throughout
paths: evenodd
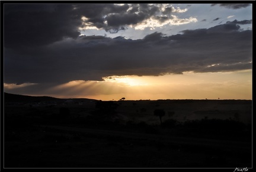
M 4 4 L 3 14 L 4 92 L 252 99 L 252 4 Z

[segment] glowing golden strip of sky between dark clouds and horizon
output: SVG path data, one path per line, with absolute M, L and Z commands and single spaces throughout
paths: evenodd
M 126 100 L 252 99 L 252 70 L 218 73 L 187 72 L 164 76 L 108 76 L 103 79 L 103 81 L 73 80 L 50 87 L 40 95 L 97 100 L 119 100 L 123 97 Z M 15 89 L 11 87 L 12 85 L 4 86 L 7 90 L 17 89 L 17 86 Z M 25 86 L 23 85 L 23 88 Z

